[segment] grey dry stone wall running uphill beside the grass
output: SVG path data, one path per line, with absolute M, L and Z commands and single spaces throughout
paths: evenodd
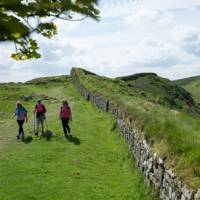
M 71 76 L 73 84 L 86 100 L 94 103 L 100 110 L 110 112 L 116 118 L 121 135 L 125 138 L 137 166 L 145 175 L 148 185 L 156 188 L 160 199 L 200 200 L 200 189 L 193 190 L 187 187 L 172 170 L 166 168 L 163 159 L 151 150 L 146 140 L 134 128 L 131 116 L 123 112 L 115 102 L 87 90 L 81 84 L 76 70 L 72 70 Z

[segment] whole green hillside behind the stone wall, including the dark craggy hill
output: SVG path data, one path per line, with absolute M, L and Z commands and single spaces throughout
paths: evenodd
M 199 188 L 199 107 L 189 92 L 156 74 L 110 79 L 74 70 L 89 91 L 107 97 L 132 117 L 134 126 L 168 167 L 188 185 Z

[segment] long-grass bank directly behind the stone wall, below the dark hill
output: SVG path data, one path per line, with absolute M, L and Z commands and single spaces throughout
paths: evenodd
M 185 109 L 170 108 L 156 100 L 152 101 L 152 98 L 143 94 L 143 89 L 129 87 L 123 79 L 100 77 L 84 73 L 80 69 L 76 72 L 80 82 L 89 91 L 107 97 L 132 117 L 134 127 L 141 132 L 142 137 L 147 139 L 154 151 L 166 158 L 167 166 L 174 169 L 181 180 L 193 188 L 199 188 L 200 119 L 198 115 L 192 115 L 192 112 L 187 112 Z M 144 78 L 142 81 L 145 81 Z M 168 84 L 168 82 L 168 80 L 165 82 L 165 87 L 171 87 L 172 83 Z M 153 83 L 154 90 L 151 91 L 154 93 L 155 86 L 156 83 Z M 150 85 L 148 87 L 151 88 Z M 172 87 L 172 96 L 176 96 L 174 88 L 176 87 Z M 160 86 L 158 89 L 160 90 Z

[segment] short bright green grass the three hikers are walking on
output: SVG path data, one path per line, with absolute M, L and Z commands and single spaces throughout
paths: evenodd
M 9 87 L 18 87 L 18 92 Z M 1 200 L 153 200 L 128 153 L 114 120 L 109 114 L 86 102 L 70 82 L 36 86 L 0 85 L 0 199 Z M 50 129 L 56 134 L 46 138 L 33 136 L 32 110 L 36 99 L 24 102 L 29 122 L 25 132 L 32 140 L 16 141 L 17 125 L 10 119 L 15 101 L 22 95 L 38 93 L 56 97 L 45 101 Z M 58 120 L 60 101 L 66 98 L 72 107 L 74 139 L 64 138 Z

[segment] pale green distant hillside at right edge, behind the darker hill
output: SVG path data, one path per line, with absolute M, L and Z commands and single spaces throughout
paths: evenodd
M 189 91 L 194 99 L 200 103 L 200 76 L 179 79 L 174 81 L 174 83 Z

